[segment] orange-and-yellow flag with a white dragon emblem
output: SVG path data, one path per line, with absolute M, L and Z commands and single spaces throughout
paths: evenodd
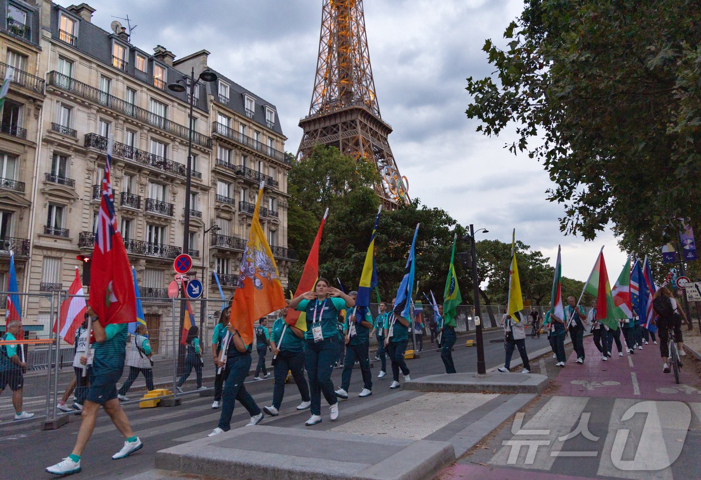
M 258 189 L 251 230 L 241 260 L 236 293 L 231 301 L 230 322 L 245 345 L 253 342 L 253 324 L 268 313 L 285 308 L 285 292 L 273 252 L 261 228 L 259 213 L 264 182 Z

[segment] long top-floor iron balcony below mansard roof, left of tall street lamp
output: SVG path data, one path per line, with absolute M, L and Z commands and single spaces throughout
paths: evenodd
M 163 83 L 163 81 L 161 81 Z M 61 90 L 66 90 L 71 92 L 73 95 L 77 95 L 86 100 L 96 102 L 99 104 L 106 105 L 107 107 L 121 112 L 132 118 L 136 118 L 139 121 L 153 125 L 156 128 L 160 128 L 165 132 L 176 135 L 182 139 L 189 139 L 189 128 L 185 125 L 180 125 L 179 123 L 172 122 L 168 118 L 163 118 L 162 116 L 151 113 L 146 109 L 141 107 L 135 107 L 134 104 L 130 104 L 126 100 L 114 97 L 114 95 L 109 95 L 102 92 L 98 88 L 91 87 L 87 83 L 79 82 L 73 78 L 60 74 L 57 71 L 50 71 L 48 74 L 48 84 L 60 88 Z M 165 83 L 163 83 L 165 88 Z M 158 85 L 156 85 L 158 86 Z M 192 141 L 198 145 L 205 146 L 207 148 L 212 148 L 212 139 L 206 135 L 202 135 L 198 132 L 193 132 Z

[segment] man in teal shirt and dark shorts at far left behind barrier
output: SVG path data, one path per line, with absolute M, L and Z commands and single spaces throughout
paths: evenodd
M 11 342 L 17 340 L 22 331 L 20 320 L 11 320 L 7 324 L 7 331 L 2 336 L 2 340 Z M 6 387 L 12 390 L 12 406 L 15 407 L 15 420 L 26 420 L 32 418 L 34 413 L 27 413 L 22 410 L 22 387 L 25 385 L 25 371 L 27 364 L 22 362 L 17 350 L 22 345 L 17 343 L 7 343 L 0 345 L 0 395 Z

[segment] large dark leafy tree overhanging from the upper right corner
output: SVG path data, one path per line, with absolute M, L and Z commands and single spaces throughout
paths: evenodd
M 692 0 L 529 0 L 483 50 L 498 80 L 468 78 L 477 130 L 543 162 L 561 230 L 613 222 L 628 251 L 701 219 L 701 9 Z M 672 229 L 672 231 L 674 228 Z

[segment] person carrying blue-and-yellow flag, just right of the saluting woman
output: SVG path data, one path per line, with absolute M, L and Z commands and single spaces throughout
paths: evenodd
M 358 292 L 355 290 L 348 294 L 355 302 Z M 355 310 L 346 310 L 346 323 L 343 324 L 343 336 L 346 343 L 346 359 L 343 361 L 343 373 L 341 373 L 341 388 L 336 390 L 336 397 L 348 399 L 348 390 L 351 388 L 351 376 L 356 360 L 360 364 L 362 375 L 362 391 L 358 397 L 372 395 L 372 373 L 370 372 L 370 329 L 372 329 L 372 314 L 365 311 L 365 317 L 358 319 Z M 360 322 L 358 322 L 360 320 Z

